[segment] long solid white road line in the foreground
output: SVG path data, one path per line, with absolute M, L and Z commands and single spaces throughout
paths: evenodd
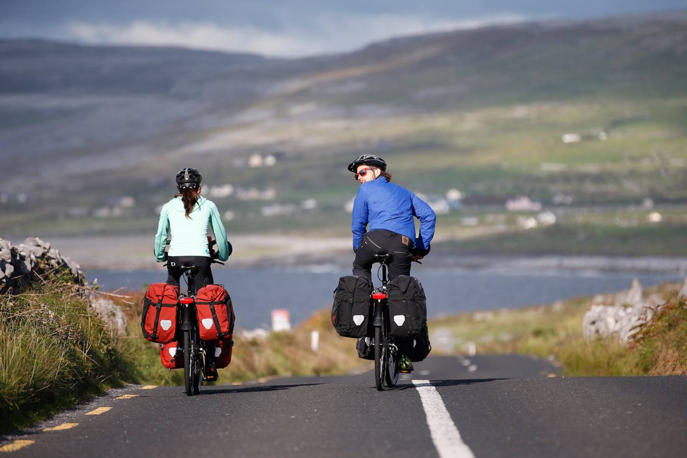
M 413 380 L 427 415 L 429 434 L 440 458 L 474 458 L 472 450 L 460 438 L 439 392 L 429 380 Z

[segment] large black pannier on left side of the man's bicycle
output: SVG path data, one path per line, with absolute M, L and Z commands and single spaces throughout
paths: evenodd
M 332 324 L 339 336 L 360 338 L 371 329 L 372 283 L 359 275 L 342 276 L 334 290 Z

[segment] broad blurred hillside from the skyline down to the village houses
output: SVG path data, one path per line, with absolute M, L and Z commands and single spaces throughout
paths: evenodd
M 517 193 L 682 202 L 685 98 L 687 12 L 409 36 L 304 59 L 0 41 L 10 215 L 0 230 L 144 230 L 186 164 L 209 185 L 246 190 L 218 197 L 253 221 L 245 230 L 293 227 L 313 196 L 312 226 L 326 226 L 346 220 L 354 192 L 342 164 L 370 151 L 409 186 L 460 188 L 477 204 Z M 585 142 L 563 149 L 567 132 Z M 276 164 L 249 167 L 256 153 Z M 122 196 L 135 198 L 124 209 L 135 223 L 102 210 Z

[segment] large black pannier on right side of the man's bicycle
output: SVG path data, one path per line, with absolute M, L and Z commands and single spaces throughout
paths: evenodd
M 412 276 L 396 276 L 387 283 L 387 299 L 392 336 L 419 336 L 427 325 L 427 298 L 423 285 Z

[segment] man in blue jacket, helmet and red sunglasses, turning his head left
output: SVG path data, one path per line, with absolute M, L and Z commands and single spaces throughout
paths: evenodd
M 386 162 L 375 155 L 361 155 L 348 165 L 360 183 L 351 222 L 353 274 L 369 281 L 372 281 L 370 271 L 375 254 L 392 254 L 388 266 L 390 280 L 398 275 L 410 275 L 412 261 L 423 259 L 429 253 L 434 237 L 434 210 L 411 191 L 392 184 L 392 175 L 386 168 Z M 420 220 L 417 237 L 414 218 Z M 412 370 L 407 356 L 409 350 L 403 353 L 402 369 Z

